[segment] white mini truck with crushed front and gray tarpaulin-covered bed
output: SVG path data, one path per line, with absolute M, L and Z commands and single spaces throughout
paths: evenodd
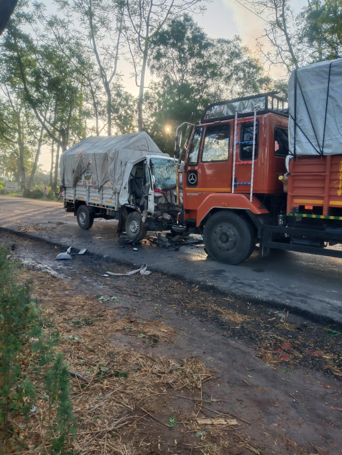
M 176 163 L 144 131 L 83 139 L 59 163 L 64 208 L 82 229 L 118 219 L 118 233 L 139 241 L 176 222 Z

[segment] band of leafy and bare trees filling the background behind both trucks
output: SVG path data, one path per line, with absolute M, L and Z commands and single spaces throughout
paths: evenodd
M 205 0 L 55 0 L 55 14 L 19 0 L 0 37 L 1 172 L 30 191 L 48 150 L 56 191 L 60 153 L 94 134 L 144 129 L 171 153 L 190 112 L 197 120 L 215 101 L 285 93 L 286 78 L 273 81 L 265 63 L 289 73 L 341 56 L 342 0 L 310 0 L 297 15 L 289 0 L 242 1 L 267 15 L 259 56 L 239 36 L 207 35 L 196 22 Z M 138 96 L 124 88 L 128 71 Z

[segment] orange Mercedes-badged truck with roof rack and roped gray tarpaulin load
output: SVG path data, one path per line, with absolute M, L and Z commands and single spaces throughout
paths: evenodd
M 173 230 L 201 233 L 227 264 L 257 245 L 261 257 L 279 248 L 341 258 L 326 248 L 342 243 L 341 88 L 342 59 L 320 62 L 291 74 L 289 101 L 271 92 L 214 103 L 185 141 L 178 127 Z

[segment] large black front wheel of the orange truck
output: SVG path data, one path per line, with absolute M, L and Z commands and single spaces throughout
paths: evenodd
M 236 213 L 214 213 L 204 225 L 203 241 L 208 256 L 215 261 L 235 265 L 253 253 L 255 236 L 249 223 Z

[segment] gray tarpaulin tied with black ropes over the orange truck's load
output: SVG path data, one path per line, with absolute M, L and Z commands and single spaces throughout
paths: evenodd
M 342 59 L 293 71 L 289 106 L 291 155 L 342 153 Z

